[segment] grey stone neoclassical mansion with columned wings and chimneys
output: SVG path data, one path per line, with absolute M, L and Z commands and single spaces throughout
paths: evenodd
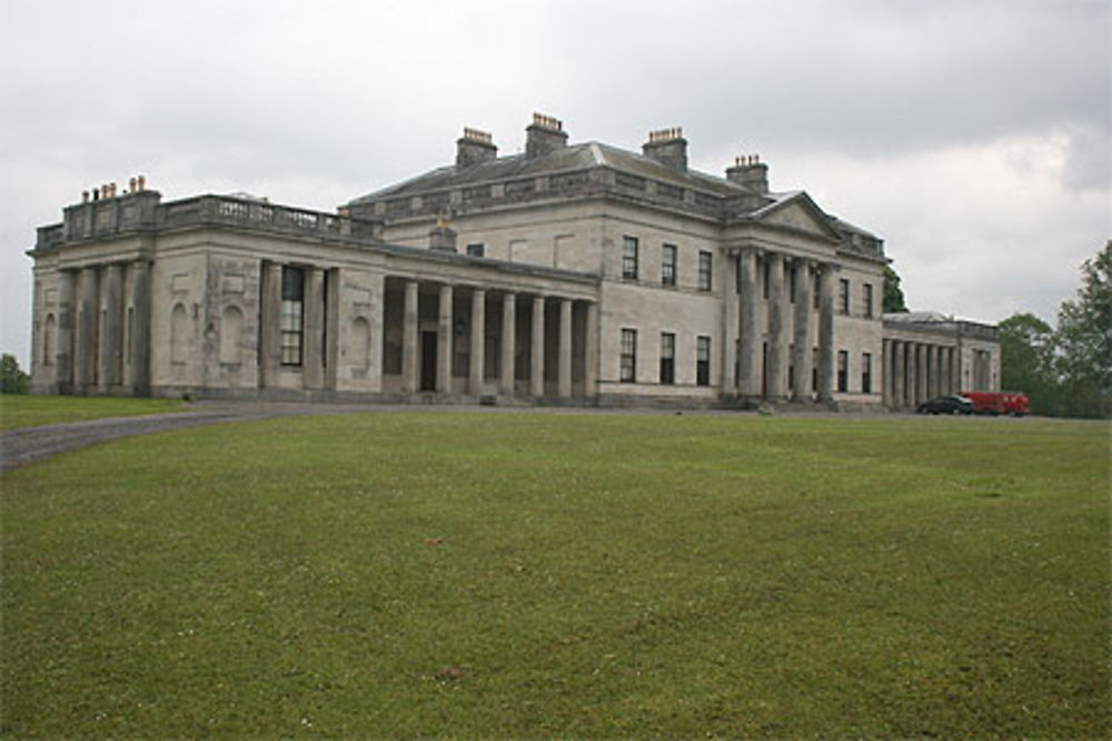
M 993 328 L 995 360 L 966 360 L 972 332 L 883 319 L 883 242 L 756 157 L 715 177 L 679 129 L 567 140 L 534 116 L 498 157 L 465 129 L 453 163 L 335 213 L 87 192 L 29 251 L 33 388 L 901 409 L 999 383 Z

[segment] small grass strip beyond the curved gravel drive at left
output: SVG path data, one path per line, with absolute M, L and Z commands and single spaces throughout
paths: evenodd
M 176 399 L 0 394 L 0 430 L 177 411 L 183 407 Z

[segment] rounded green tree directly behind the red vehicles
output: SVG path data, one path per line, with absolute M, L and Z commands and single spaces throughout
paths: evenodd
M 1034 414 L 1059 414 L 1061 394 L 1054 370 L 1054 329 L 1032 313 L 1000 322 L 1001 387 L 1022 391 Z

